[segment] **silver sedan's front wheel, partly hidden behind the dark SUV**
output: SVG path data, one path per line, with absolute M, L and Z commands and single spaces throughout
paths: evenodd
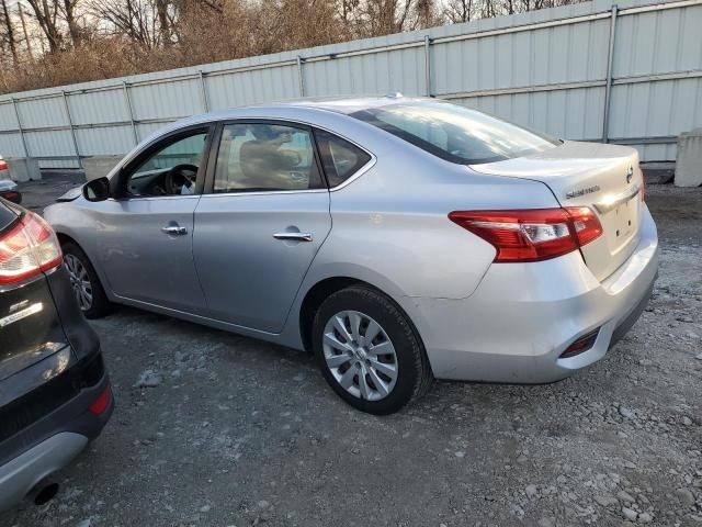
M 110 313 L 112 304 L 86 253 L 72 242 L 65 243 L 61 249 L 73 296 L 86 318 L 100 318 Z

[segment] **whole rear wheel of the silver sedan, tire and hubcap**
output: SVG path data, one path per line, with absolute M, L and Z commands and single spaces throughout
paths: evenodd
M 392 414 L 431 385 L 414 326 L 392 300 L 370 288 L 354 285 L 325 300 L 313 323 L 313 348 L 329 385 L 363 412 Z

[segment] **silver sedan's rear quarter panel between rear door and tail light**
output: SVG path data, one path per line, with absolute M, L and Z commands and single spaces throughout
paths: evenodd
M 495 248 L 451 222 L 450 212 L 558 206 L 543 183 L 477 175 L 384 132 L 353 139 L 367 145 L 376 162 L 331 191 L 332 229 L 308 287 L 348 276 L 393 296 L 466 298 Z

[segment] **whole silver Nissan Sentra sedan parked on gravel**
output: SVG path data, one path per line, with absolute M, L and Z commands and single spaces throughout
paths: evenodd
M 434 378 L 601 359 L 658 268 L 636 150 L 400 96 L 190 117 L 45 214 L 88 317 L 128 304 L 310 349 L 375 414 Z

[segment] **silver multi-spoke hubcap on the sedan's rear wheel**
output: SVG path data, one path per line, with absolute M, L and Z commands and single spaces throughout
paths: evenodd
M 351 395 L 380 401 L 397 381 L 397 355 L 385 329 L 359 311 L 341 311 L 327 322 L 322 349 L 337 382 Z

